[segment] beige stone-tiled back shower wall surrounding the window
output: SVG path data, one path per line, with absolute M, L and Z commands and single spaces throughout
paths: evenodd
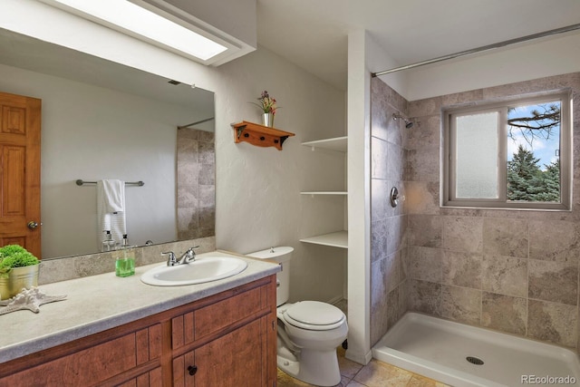
M 409 102 L 405 142 L 406 295 L 409 310 L 578 347 L 580 173 L 569 212 L 440 208 L 440 109 L 572 88 L 580 127 L 580 73 Z M 373 94 L 374 95 L 374 94 Z M 580 131 L 574 133 L 580 163 Z

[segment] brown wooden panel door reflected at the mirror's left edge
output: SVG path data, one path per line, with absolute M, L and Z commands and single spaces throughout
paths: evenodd
M 41 100 L 0 92 L 0 246 L 41 258 Z

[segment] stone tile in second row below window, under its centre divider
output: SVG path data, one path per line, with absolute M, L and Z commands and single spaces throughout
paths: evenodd
M 481 286 L 492 293 L 527 297 L 527 259 L 484 256 Z

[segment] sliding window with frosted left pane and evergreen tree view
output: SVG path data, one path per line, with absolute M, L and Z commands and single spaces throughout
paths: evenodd
M 570 92 L 443 110 L 442 205 L 569 210 Z

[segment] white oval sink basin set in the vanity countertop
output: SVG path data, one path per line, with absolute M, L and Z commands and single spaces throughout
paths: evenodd
M 203 284 L 235 276 L 246 267 L 246 261 L 233 256 L 208 256 L 189 264 L 153 267 L 143 273 L 141 281 L 157 286 Z

